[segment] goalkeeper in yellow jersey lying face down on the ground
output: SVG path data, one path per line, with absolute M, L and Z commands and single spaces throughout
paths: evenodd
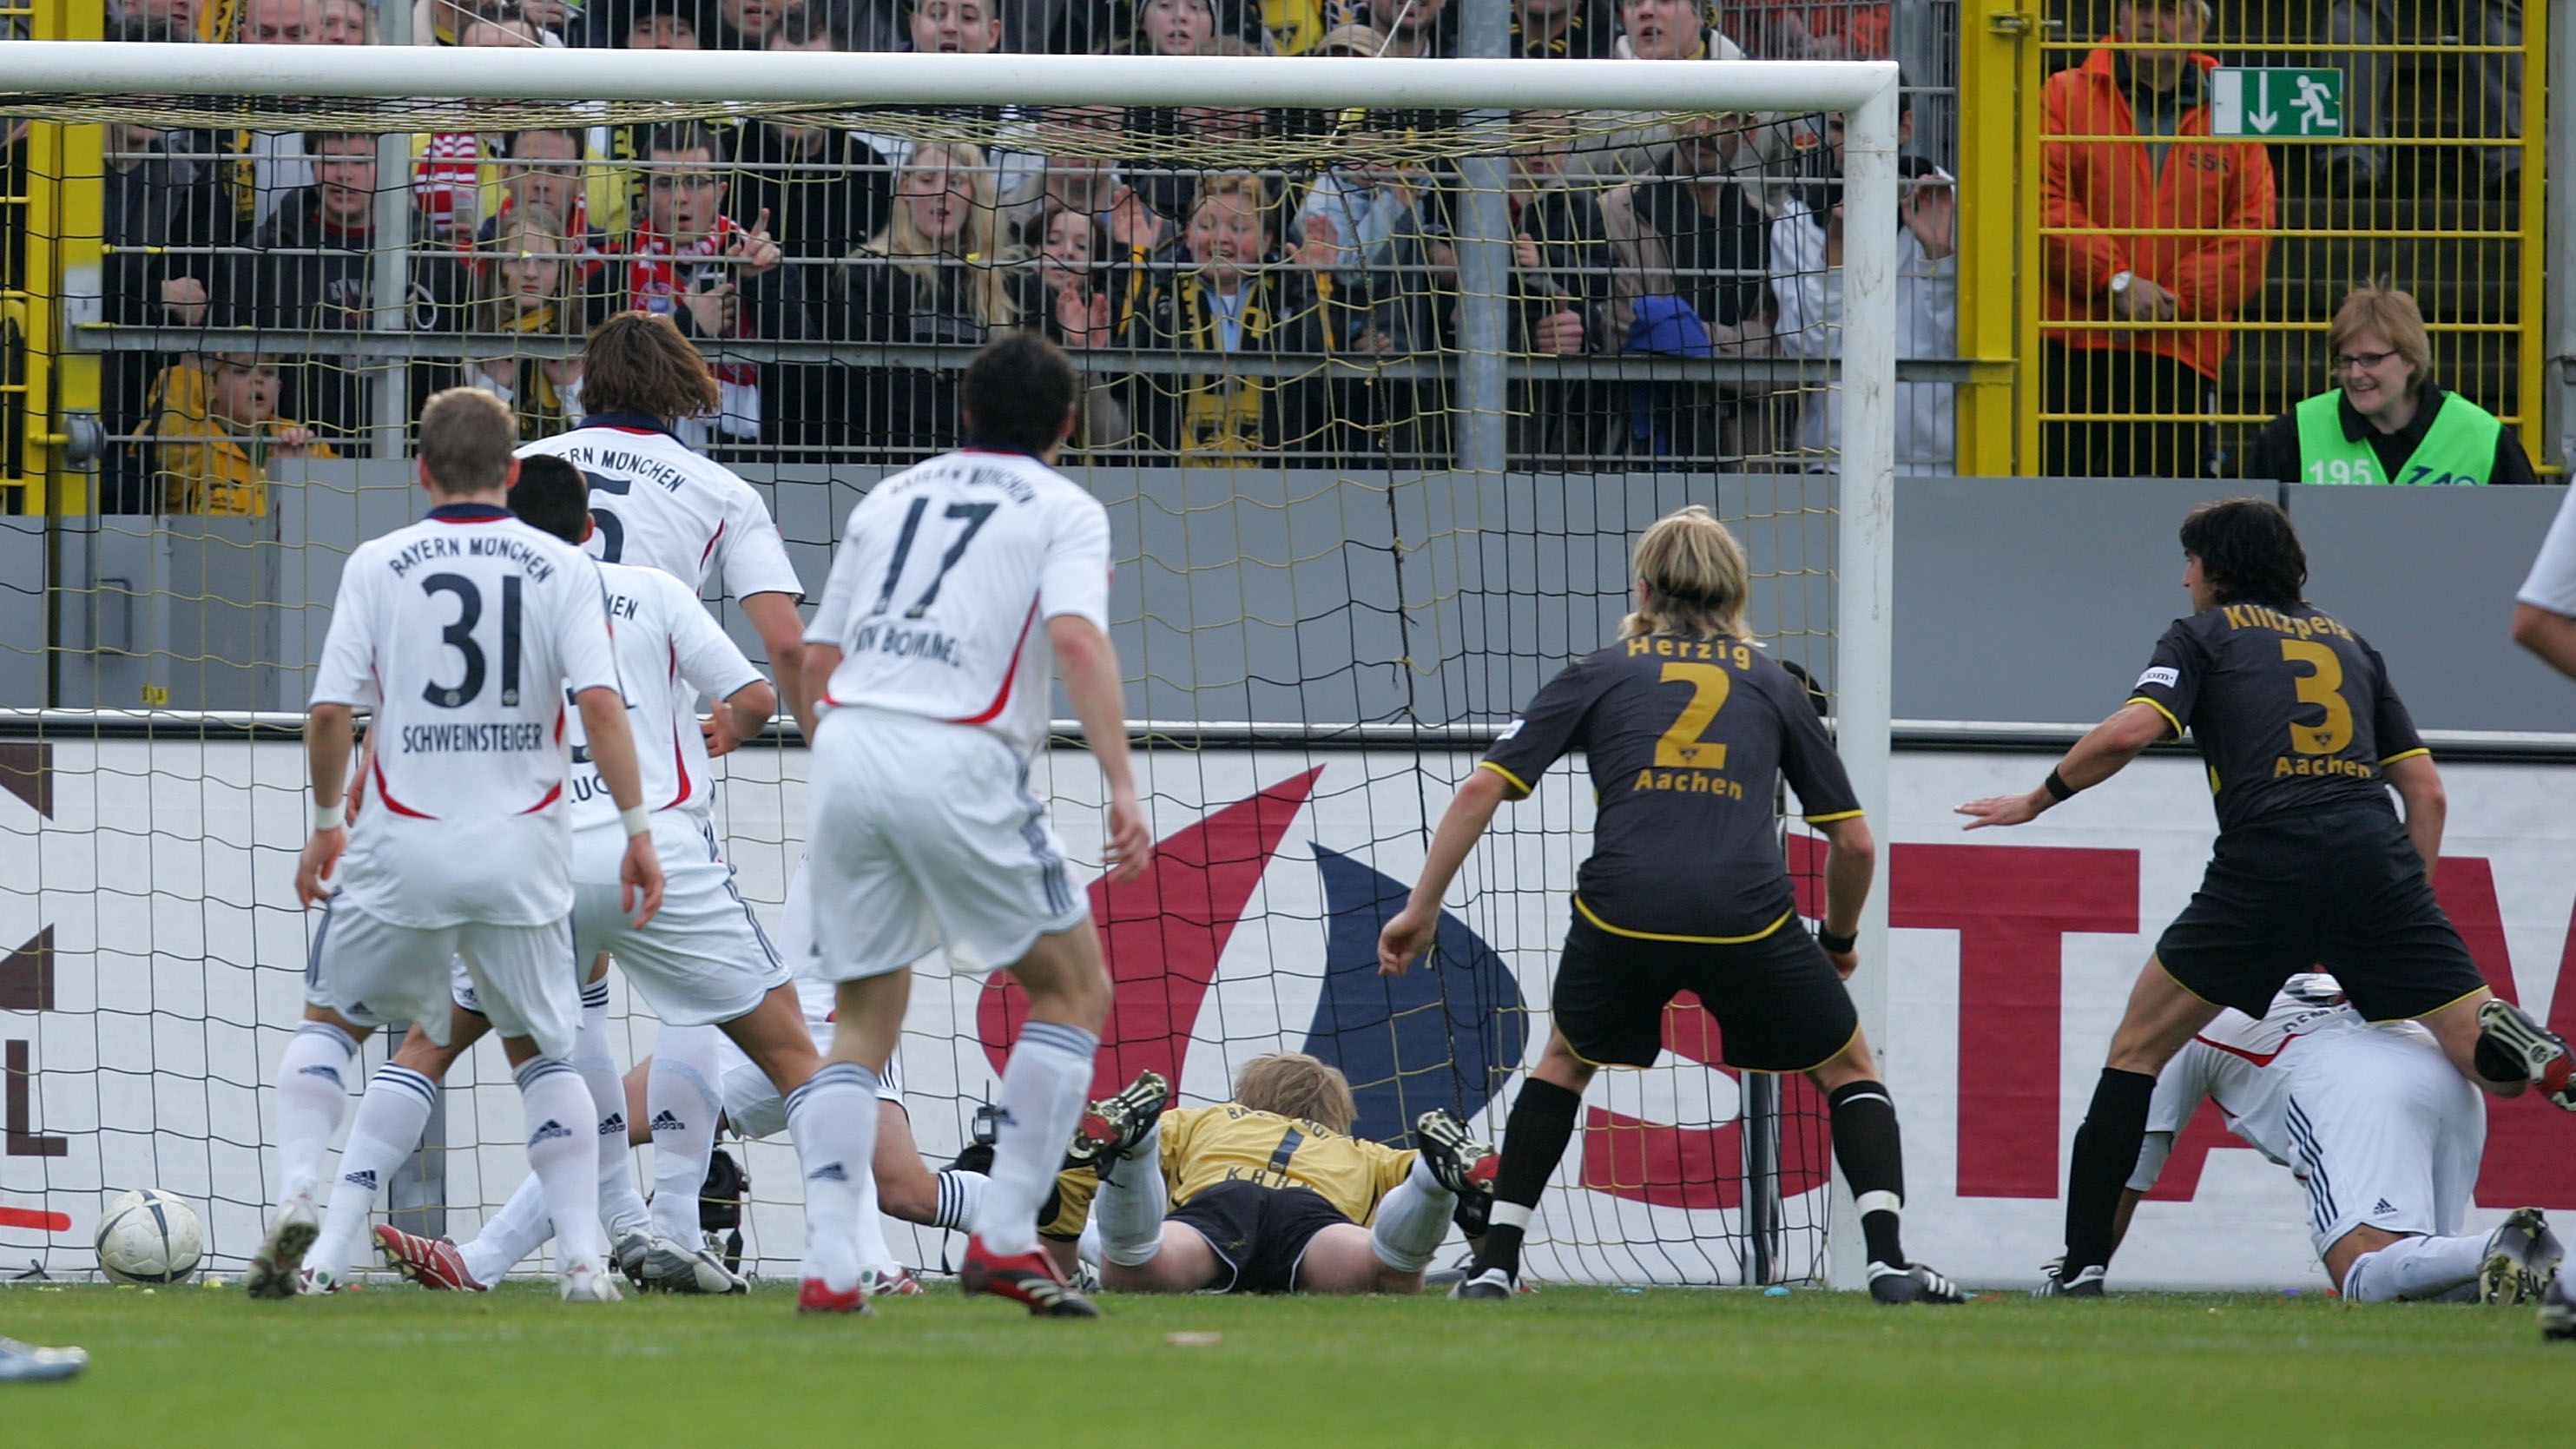
M 1082 1256 L 1110 1292 L 1422 1292 L 1461 1199 L 1494 1189 L 1494 1148 L 1448 1112 L 1414 1122 L 1419 1150 L 1350 1138 L 1350 1081 L 1303 1053 L 1244 1063 L 1218 1107 L 1167 1091 L 1149 1071 L 1095 1102 L 1059 1179 L 1046 1233 L 1090 1197 Z

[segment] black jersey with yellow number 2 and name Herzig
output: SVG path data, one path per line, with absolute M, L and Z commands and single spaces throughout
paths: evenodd
M 1623 638 L 1548 679 L 1484 770 L 1512 798 L 1571 749 L 1600 800 L 1574 909 L 1613 934 L 1741 942 L 1788 924 L 1775 780 L 1808 821 L 1860 813 L 1806 685 L 1734 638 Z

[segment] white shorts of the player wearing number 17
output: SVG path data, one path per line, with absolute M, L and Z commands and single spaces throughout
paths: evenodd
M 1090 916 L 1028 762 L 992 734 L 842 705 L 809 770 L 809 975 L 860 981 L 938 947 L 984 975 Z

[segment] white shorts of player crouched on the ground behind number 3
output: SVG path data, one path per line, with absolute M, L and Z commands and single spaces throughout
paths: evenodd
M 2437 1048 L 2385 1027 L 2334 1037 L 2290 1078 L 2287 1125 L 2318 1256 L 2354 1228 L 2463 1230 L 2486 1104 Z

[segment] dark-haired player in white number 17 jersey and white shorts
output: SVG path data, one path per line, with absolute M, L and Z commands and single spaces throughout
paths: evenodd
M 904 1024 L 912 963 L 1010 970 L 1028 991 L 997 1102 L 992 1179 L 961 1284 L 1030 1313 L 1092 1318 L 1038 1251 L 1038 1207 L 1082 1114 L 1108 1024 L 1100 934 L 1028 790 L 1054 664 L 1108 785 L 1108 872 L 1144 872 L 1151 836 L 1128 772 L 1108 638 L 1108 512 L 1051 468 L 1074 430 L 1074 368 L 1043 337 L 1002 337 L 961 386 L 969 448 L 907 468 L 850 512 L 806 631 L 799 718 L 817 718 L 811 975 L 840 983 L 827 1086 L 845 1117 Z M 866 1156 L 860 1156 L 866 1161 Z M 806 1220 L 848 1225 L 850 1181 L 806 1176 Z M 848 1230 L 848 1228 L 845 1228 Z M 799 1307 L 863 1307 L 858 1261 L 809 1259 Z

